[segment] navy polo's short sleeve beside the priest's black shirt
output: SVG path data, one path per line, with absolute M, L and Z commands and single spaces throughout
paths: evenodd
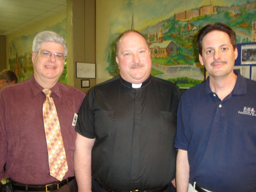
M 184 116 L 188 114 L 184 114 L 187 110 L 182 109 L 182 102 L 184 99 L 181 98 L 179 107 L 178 107 L 178 112 L 177 112 L 177 133 L 175 136 L 174 140 L 174 147 L 175 148 L 180 148 L 183 150 L 188 150 L 188 139 L 186 138 L 186 124 L 184 123 Z

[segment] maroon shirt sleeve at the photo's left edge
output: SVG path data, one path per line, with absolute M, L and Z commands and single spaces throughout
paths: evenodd
M 6 163 L 8 143 L 6 140 L 4 122 L 4 99 L 3 92 L 0 92 L 0 180 L 4 177 L 4 164 Z

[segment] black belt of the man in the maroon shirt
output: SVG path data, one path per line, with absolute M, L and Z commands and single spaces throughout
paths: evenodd
M 68 184 L 71 180 L 75 177 L 68 177 L 68 179 L 62 180 L 60 182 L 52 182 L 51 184 L 45 185 L 29 185 L 29 184 L 22 184 L 20 182 L 15 182 L 12 180 L 12 188 L 13 190 L 20 190 L 20 191 L 54 191 L 60 189 L 65 184 Z

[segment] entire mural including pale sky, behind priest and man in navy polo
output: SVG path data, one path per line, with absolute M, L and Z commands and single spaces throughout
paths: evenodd
M 99 76 L 104 76 L 105 72 L 110 77 L 118 76 L 115 40 L 126 29 L 136 29 L 147 39 L 152 56 L 152 75 L 171 81 L 180 88 L 189 88 L 205 80 L 196 47 L 196 33 L 205 24 L 224 22 L 236 31 L 237 43 L 255 42 L 256 1 L 130 0 L 115 1 L 114 4 L 119 12 L 111 14 L 118 14 L 118 18 L 113 17 L 109 30 L 105 30 L 111 31 L 105 48 L 106 56 L 103 56 L 108 66 L 98 65 L 98 68 L 104 67 Z M 102 58 L 99 57 L 97 63 L 106 63 L 100 60 Z

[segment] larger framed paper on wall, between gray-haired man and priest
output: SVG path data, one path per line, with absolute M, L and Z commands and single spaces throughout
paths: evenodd
M 95 63 L 79 63 L 76 62 L 76 77 L 77 78 L 96 78 L 96 65 Z

